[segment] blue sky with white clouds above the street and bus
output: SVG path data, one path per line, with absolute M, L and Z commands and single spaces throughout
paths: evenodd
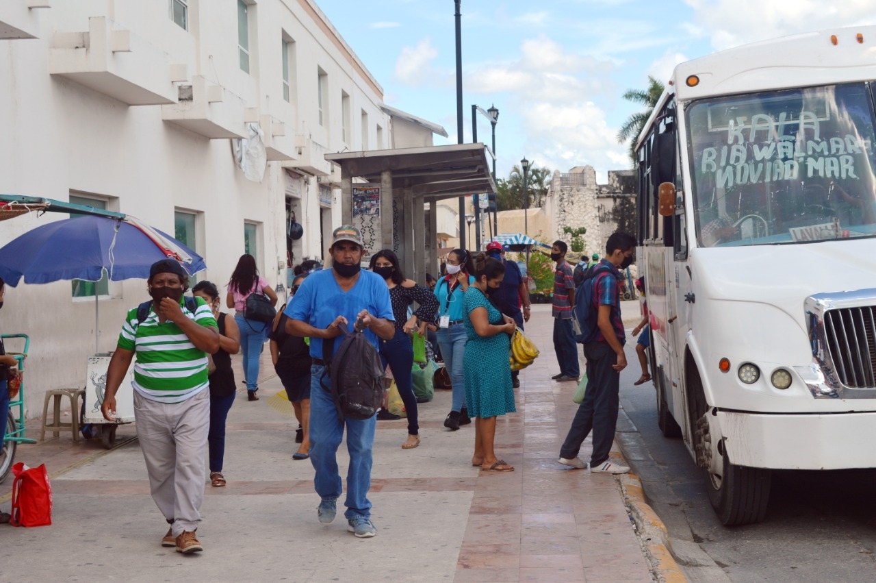
M 456 144 L 453 0 L 315 0 L 384 89 L 385 103 L 441 124 Z M 837 26 L 876 24 L 876 0 L 463 0 L 463 141 L 471 105 L 499 110 L 497 174 L 526 157 L 597 179 L 629 167 L 623 99 L 675 64 L 717 50 Z M 490 122 L 477 116 L 489 144 Z

